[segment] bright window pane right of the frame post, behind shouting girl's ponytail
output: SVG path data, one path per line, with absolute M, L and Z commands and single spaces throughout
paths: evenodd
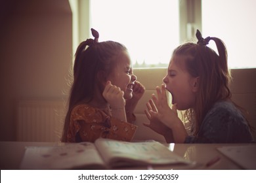
M 255 0 L 202 0 L 202 35 L 224 41 L 231 69 L 256 68 L 255 7 Z

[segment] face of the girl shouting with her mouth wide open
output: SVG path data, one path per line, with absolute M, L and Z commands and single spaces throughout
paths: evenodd
M 198 78 L 190 76 L 184 65 L 184 58 L 174 56 L 163 78 L 165 88 L 172 95 L 172 103 L 178 110 L 193 108 L 198 88 Z

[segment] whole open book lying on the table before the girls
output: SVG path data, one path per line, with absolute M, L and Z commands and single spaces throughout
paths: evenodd
M 64 146 L 26 147 L 21 169 L 114 169 L 171 165 L 190 161 L 156 141 L 123 142 L 97 139 Z

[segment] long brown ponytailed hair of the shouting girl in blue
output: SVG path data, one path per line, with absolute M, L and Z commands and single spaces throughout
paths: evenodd
M 231 100 L 231 75 L 228 70 L 226 46 L 216 37 L 209 40 L 215 42 L 219 55 L 208 46 L 192 42 L 184 43 L 173 51 L 173 56 L 185 58 L 188 73 L 200 78 L 194 108 L 185 112 L 186 118 L 193 122 L 194 135 L 198 134 L 203 118 L 215 102 Z

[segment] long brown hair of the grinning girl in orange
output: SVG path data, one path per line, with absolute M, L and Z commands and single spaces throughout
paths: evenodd
M 120 52 L 127 52 L 127 48 L 114 41 L 94 42 L 87 47 L 87 41 L 83 41 L 77 47 L 74 61 L 73 84 L 70 90 L 68 111 L 64 122 L 62 142 L 66 142 L 67 131 L 70 125 L 70 114 L 75 105 L 89 103 L 95 94 L 95 87 L 102 88 L 96 75 L 98 71 L 104 71 L 108 76 Z

